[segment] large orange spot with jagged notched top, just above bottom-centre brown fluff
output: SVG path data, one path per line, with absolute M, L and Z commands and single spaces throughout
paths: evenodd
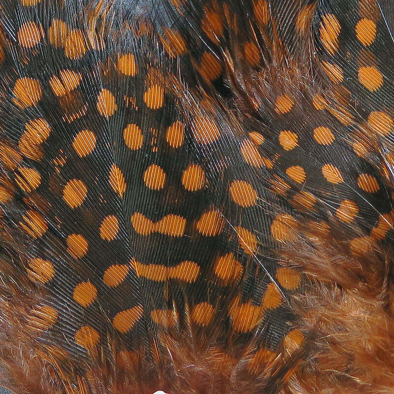
M 258 305 L 252 305 L 252 301 L 239 304 L 239 297 L 230 305 L 229 316 L 231 325 L 235 331 L 251 331 L 263 317 L 264 308 Z

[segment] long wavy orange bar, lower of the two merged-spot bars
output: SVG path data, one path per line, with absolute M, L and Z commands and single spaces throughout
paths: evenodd
M 193 283 L 197 280 L 200 273 L 200 267 L 191 261 L 184 261 L 173 267 L 160 264 L 142 264 L 137 261 L 133 261 L 132 264 L 138 277 L 142 276 L 157 282 L 175 279 Z

